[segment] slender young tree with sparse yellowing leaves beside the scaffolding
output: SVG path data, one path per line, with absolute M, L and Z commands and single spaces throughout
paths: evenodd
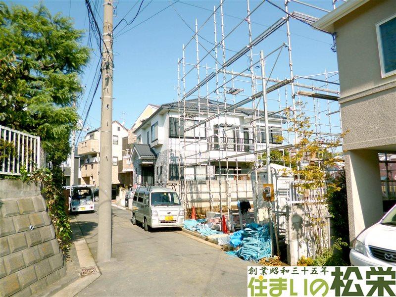
M 302 102 L 296 104 L 303 110 Z M 294 188 L 302 198 L 305 240 L 319 256 L 326 252 L 324 214 L 327 198 L 330 193 L 341 190 L 337 184 L 327 180 L 327 169 L 339 160 L 336 148 L 341 146 L 344 134 L 324 138 L 313 132 L 310 118 L 303 111 L 294 112 L 288 107 L 284 112 L 291 122 L 289 131 L 296 134 L 297 143 L 290 153 L 282 155 L 282 160 L 295 165 L 291 170 L 297 177 Z M 331 188 L 331 191 L 326 192 L 326 188 Z

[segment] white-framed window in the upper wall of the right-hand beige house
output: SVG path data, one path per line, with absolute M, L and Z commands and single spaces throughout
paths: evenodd
M 381 76 L 396 74 L 396 16 L 376 24 Z

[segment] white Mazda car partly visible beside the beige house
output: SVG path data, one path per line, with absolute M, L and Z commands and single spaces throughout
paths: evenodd
M 396 205 L 356 237 L 349 260 L 353 266 L 396 266 Z

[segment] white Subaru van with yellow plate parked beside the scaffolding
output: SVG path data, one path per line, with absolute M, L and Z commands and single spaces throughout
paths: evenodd
M 130 201 L 131 202 L 131 201 Z M 184 210 L 177 193 L 165 187 L 142 187 L 132 200 L 132 224 L 151 228 L 183 227 Z

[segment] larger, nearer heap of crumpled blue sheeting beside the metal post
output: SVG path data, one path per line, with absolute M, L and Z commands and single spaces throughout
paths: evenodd
M 227 254 L 235 255 L 247 261 L 258 261 L 271 257 L 271 237 L 269 225 L 248 224 L 245 230 L 237 231 L 230 236 L 230 244 L 239 247 L 237 250 L 228 251 Z

